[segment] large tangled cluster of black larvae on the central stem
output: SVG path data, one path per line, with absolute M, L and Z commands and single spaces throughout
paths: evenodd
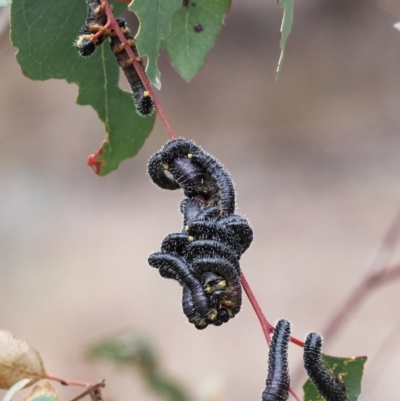
M 168 235 L 149 264 L 183 288 L 183 312 L 197 329 L 220 326 L 240 310 L 239 259 L 253 240 L 235 211 L 235 190 L 223 166 L 191 141 L 167 143 L 148 171 L 163 189 L 182 188 L 183 230 Z

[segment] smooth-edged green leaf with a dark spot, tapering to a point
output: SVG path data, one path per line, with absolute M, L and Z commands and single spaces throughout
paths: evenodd
M 178 73 L 190 81 L 203 67 L 231 0 L 185 0 L 174 14 L 171 35 L 161 44 Z

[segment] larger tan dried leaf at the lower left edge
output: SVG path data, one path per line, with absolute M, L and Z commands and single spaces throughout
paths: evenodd
M 40 354 L 27 341 L 0 330 L 0 388 L 9 389 L 25 378 L 32 379 L 33 384 L 44 374 Z

